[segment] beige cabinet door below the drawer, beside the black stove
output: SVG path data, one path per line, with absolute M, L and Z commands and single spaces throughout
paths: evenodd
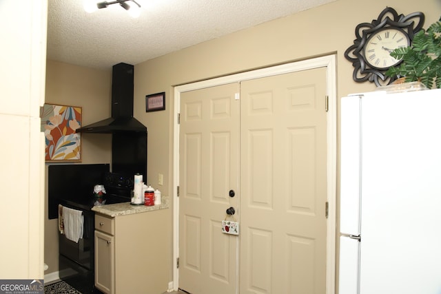
M 114 293 L 114 237 L 95 231 L 95 286 L 106 294 Z

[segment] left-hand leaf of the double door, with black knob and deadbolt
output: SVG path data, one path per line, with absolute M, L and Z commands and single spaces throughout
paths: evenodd
M 238 87 L 181 95 L 179 287 L 192 294 L 236 293 L 238 237 L 221 222 L 238 205 Z

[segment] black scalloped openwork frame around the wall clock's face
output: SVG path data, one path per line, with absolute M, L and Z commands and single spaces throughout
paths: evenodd
M 415 23 L 418 21 L 416 26 Z M 422 12 L 413 12 L 404 16 L 404 14 L 398 15 L 396 10 L 393 8 L 387 7 L 385 8 L 380 15 L 378 15 L 378 19 L 373 19 L 371 23 L 360 23 L 356 26 L 356 38 L 353 40 L 353 45 L 349 46 L 345 51 L 345 58 L 351 61 L 354 69 L 352 78 L 353 81 L 357 83 L 363 83 L 365 81 L 369 81 L 371 83 L 375 83 L 377 87 L 382 85 L 389 85 L 396 80 L 396 76 L 389 77 L 385 76 L 384 73 L 387 71 L 380 70 L 375 67 L 371 67 L 367 62 L 366 58 L 363 55 L 364 47 L 369 39 L 371 34 L 376 33 L 380 30 L 384 30 L 384 28 L 398 28 L 404 31 L 407 36 L 409 36 L 409 40 L 412 43 L 413 36 L 420 30 L 422 30 L 422 26 L 424 25 L 424 14 Z M 397 63 L 394 66 L 398 66 L 400 63 Z

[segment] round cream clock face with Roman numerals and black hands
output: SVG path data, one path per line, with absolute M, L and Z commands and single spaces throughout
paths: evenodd
M 368 65 L 383 70 L 397 65 L 401 61 L 394 59 L 390 52 L 409 45 L 409 36 L 404 31 L 387 27 L 369 36 L 363 54 Z

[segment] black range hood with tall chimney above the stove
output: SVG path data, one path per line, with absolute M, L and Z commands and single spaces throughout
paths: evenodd
M 133 117 L 134 66 L 118 63 L 112 68 L 112 117 L 76 129 L 77 133 L 113 134 L 143 132 L 147 127 Z

